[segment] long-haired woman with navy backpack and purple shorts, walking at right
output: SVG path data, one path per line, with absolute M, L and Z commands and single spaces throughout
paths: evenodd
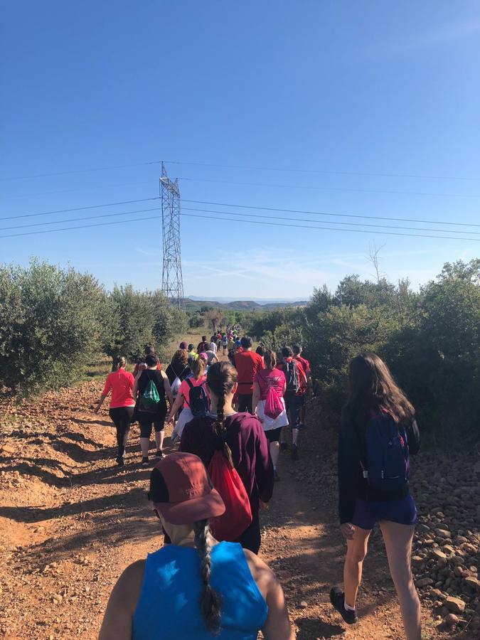
M 421 634 L 420 601 L 410 568 L 417 511 L 408 486 L 409 454 L 419 447 L 415 410 L 388 367 L 375 353 L 353 358 L 338 444 L 340 522 L 347 541 L 345 592 L 334 588 L 330 599 L 345 622 L 357 622 L 368 538 L 380 523 L 407 640 L 420 640 Z

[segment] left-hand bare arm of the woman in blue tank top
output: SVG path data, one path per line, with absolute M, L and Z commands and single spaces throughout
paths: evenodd
M 142 591 L 145 560 L 124 570 L 113 587 L 98 640 L 132 640 L 133 616 Z

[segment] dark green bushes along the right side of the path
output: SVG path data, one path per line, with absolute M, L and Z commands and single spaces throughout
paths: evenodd
M 256 330 L 277 351 L 303 343 L 326 411 L 346 400 L 348 364 L 360 351 L 385 358 L 434 439 L 479 437 L 480 260 L 444 266 L 419 293 L 409 282 L 349 276 L 335 294 L 315 289 L 306 309 L 263 314 Z

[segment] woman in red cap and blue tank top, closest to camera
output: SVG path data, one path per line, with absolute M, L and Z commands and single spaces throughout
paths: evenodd
M 176 452 L 151 471 L 149 498 L 171 538 L 127 567 L 99 640 L 294 640 L 282 587 L 260 558 L 218 543 L 210 518 L 225 511 L 198 457 Z

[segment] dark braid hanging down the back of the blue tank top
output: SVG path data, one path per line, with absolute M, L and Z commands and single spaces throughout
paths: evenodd
M 210 585 L 210 575 L 212 560 L 210 556 L 210 545 L 208 544 L 208 534 L 210 527 L 208 520 L 199 520 L 193 524 L 195 534 L 195 544 L 200 556 L 200 574 L 203 582 L 203 592 L 200 601 L 201 612 L 205 619 L 208 631 L 217 635 L 220 632 L 220 609 L 222 599 Z

